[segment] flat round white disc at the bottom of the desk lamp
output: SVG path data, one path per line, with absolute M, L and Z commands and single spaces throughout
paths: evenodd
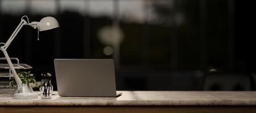
M 38 95 L 36 93 L 14 93 L 14 99 L 37 99 Z

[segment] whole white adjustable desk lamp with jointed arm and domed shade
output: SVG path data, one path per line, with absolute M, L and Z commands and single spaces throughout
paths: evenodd
M 23 18 L 27 18 L 27 21 L 24 20 Z M 53 18 L 53 17 L 45 17 L 43 19 L 40 20 L 40 22 L 37 21 L 33 21 L 30 23 L 30 21 L 28 20 L 27 16 L 22 16 L 22 19 L 18 25 L 18 27 L 15 29 L 15 31 L 11 34 L 11 37 L 9 38 L 9 40 L 7 40 L 6 43 L 0 43 L 3 44 L 3 46 L 1 46 L 1 50 L 3 51 L 3 54 L 5 54 L 5 58 L 10 66 L 11 72 L 14 76 L 14 79 L 16 81 L 18 90 L 16 90 L 14 92 L 14 99 L 36 99 L 37 98 L 37 94 L 33 93 L 32 88 L 27 88 L 26 86 L 24 86 L 24 84 L 22 84 L 22 81 L 19 79 L 19 76 L 17 75 L 13 64 L 11 63 L 10 57 L 7 54 L 7 47 L 11 44 L 12 40 L 14 40 L 15 36 L 18 34 L 18 32 L 20 31 L 20 29 L 23 27 L 23 25 L 30 25 L 33 28 L 37 28 L 38 31 L 47 31 L 49 29 L 53 29 L 53 28 L 57 28 L 59 27 L 58 25 L 58 21 Z M 38 37 L 37 37 L 38 38 Z

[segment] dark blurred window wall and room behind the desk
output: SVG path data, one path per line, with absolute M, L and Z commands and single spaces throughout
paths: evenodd
M 117 90 L 255 90 L 249 4 L 0 0 L 0 42 L 8 40 L 23 15 L 30 21 L 56 18 L 60 27 L 40 32 L 39 41 L 37 29 L 24 26 L 7 49 L 10 57 L 33 67 L 36 80 L 52 73 L 54 90 L 56 58 L 113 58 Z

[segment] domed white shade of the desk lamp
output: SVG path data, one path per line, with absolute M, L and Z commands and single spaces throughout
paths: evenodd
M 40 20 L 39 31 L 40 32 L 47 31 L 49 29 L 53 29 L 53 28 L 57 28 L 57 27 L 59 27 L 58 21 L 51 16 L 47 16 Z

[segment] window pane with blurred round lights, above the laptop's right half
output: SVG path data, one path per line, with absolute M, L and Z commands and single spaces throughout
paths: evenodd
M 114 17 L 114 2 L 112 0 L 90 1 L 90 38 L 92 58 L 112 58 L 113 54 L 104 54 L 106 50 L 114 51 L 113 45 L 108 41 L 112 40 L 112 25 Z M 109 39 L 109 40 L 108 40 Z M 108 51 L 108 52 L 109 52 Z M 114 51 L 115 53 L 115 51 Z M 116 53 L 118 54 L 118 53 Z

